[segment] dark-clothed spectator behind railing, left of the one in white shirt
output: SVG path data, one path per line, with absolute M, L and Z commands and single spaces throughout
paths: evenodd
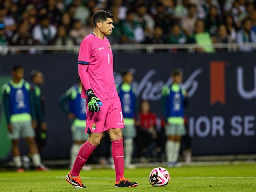
M 28 31 L 28 22 L 24 21 L 18 26 L 18 31 L 12 36 L 11 39 L 12 45 L 34 45 L 34 40 L 31 36 L 31 33 Z M 27 52 L 19 51 L 16 53 Z

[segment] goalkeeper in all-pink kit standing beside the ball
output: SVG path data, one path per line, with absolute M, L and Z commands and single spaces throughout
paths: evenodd
M 115 187 L 135 187 L 136 182 L 124 178 L 124 148 L 122 128 L 124 118 L 113 76 L 113 54 L 106 36 L 112 33 L 113 16 L 106 11 L 92 16 L 93 33 L 84 38 L 78 54 L 78 73 L 82 81 L 81 97 L 86 98 L 86 128 L 88 140 L 80 148 L 72 170 L 66 180 L 74 188 L 86 188 L 79 173 L 90 154 L 100 144 L 102 133 L 107 131 L 112 142 L 115 165 Z

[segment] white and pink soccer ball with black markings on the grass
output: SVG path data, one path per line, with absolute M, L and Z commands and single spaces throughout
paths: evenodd
M 149 182 L 153 187 L 165 187 L 169 180 L 169 172 L 162 167 L 154 168 L 149 174 Z

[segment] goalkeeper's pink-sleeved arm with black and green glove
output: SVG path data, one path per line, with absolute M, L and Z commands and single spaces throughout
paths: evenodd
M 90 80 L 88 78 L 88 66 L 90 63 L 92 48 L 89 42 L 82 41 L 80 44 L 80 50 L 78 55 L 78 74 L 81 79 L 82 85 L 86 90 L 86 96 L 88 98 L 88 110 L 92 112 L 100 111 L 102 102 L 95 96 Z M 100 105 L 100 106 L 99 106 Z

